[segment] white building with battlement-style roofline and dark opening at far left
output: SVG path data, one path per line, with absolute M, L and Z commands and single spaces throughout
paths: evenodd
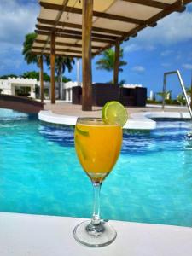
M 0 79 L 0 90 L 2 94 L 35 98 L 36 84 L 38 84 L 37 79 Z

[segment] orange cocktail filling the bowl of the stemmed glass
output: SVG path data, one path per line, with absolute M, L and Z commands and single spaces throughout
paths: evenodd
M 80 119 L 75 127 L 75 148 L 84 172 L 101 183 L 116 163 L 122 143 L 120 125 L 106 125 L 102 119 Z

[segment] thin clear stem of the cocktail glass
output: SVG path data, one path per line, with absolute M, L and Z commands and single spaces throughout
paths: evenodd
M 91 219 L 91 224 L 98 225 L 101 223 L 100 219 L 100 190 L 102 183 L 93 182 L 93 216 Z

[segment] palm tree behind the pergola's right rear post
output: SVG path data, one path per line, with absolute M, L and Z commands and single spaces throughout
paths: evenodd
M 104 69 L 107 71 L 113 71 L 114 69 L 114 61 L 115 61 L 115 52 L 113 49 L 107 49 L 102 53 L 102 58 L 96 61 L 96 69 Z M 119 53 L 119 72 L 123 71 L 122 66 L 127 64 L 126 61 L 123 60 L 123 49 L 120 49 Z

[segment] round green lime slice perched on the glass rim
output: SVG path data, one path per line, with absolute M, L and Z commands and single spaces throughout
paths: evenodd
M 128 119 L 125 107 L 119 102 L 107 102 L 102 108 L 102 120 L 109 125 L 124 126 Z

